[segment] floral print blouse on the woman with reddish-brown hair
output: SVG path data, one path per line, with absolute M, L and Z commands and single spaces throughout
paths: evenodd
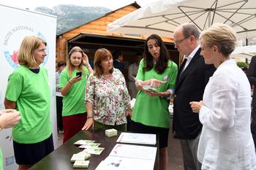
M 90 74 L 86 85 L 86 101 L 94 109 L 94 120 L 105 125 L 127 123 L 125 112 L 130 96 L 123 74 L 113 69 L 109 77 Z

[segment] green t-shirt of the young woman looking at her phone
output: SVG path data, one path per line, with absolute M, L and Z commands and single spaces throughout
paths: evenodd
M 82 79 L 75 82 L 66 96 L 63 97 L 62 116 L 77 115 L 86 112 L 85 93 L 86 93 L 86 80 L 89 76 L 89 70 L 85 67 L 85 72 L 82 74 Z M 76 77 L 79 70 L 74 70 L 69 76 L 67 69 L 61 72 L 59 88 L 63 88 L 72 77 Z

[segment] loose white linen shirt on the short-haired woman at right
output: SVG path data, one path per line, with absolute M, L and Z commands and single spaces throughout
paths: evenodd
M 234 60 L 223 62 L 210 78 L 199 113 L 203 129 L 197 158 L 202 169 L 256 169 L 250 95 L 246 74 Z

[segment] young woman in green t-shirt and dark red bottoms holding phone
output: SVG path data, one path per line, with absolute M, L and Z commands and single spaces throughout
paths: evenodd
M 63 128 L 66 142 L 86 123 L 84 104 L 86 80 L 93 72 L 88 57 L 80 47 L 73 47 L 67 58 L 67 67 L 61 72 L 59 88 L 63 98 Z

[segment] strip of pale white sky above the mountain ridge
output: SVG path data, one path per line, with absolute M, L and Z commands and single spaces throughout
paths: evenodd
M 59 4 L 74 4 L 84 7 L 106 7 L 115 10 L 132 4 L 135 0 L 0 0 L 0 4 L 33 10 L 36 7 L 48 7 L 53 9 Z M 137 0 L 140 7 L 157 0 Z

